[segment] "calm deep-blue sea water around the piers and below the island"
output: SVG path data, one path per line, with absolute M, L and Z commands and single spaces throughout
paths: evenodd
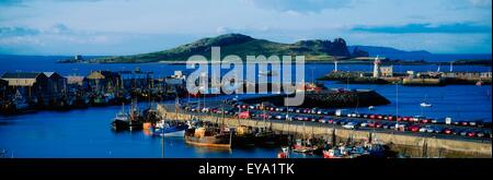
M 91 70 L 153 71 L 158 76 L 171 75 L 174 70 L 186 70 L 184 65 L 161 63 L 146 64 L 59 64 L 60 57 L 5 57 L 0 56 L 0 73 L 5 71 L 56 71 L 64 75 L 87 75 Z M 436 65 L 395 65 L 394 71 L 436 71 Z M 307 64 L 306 81 L 333 70 L 332 64 Z M 370 65 L 342 64 L 340 70 L 370 71 Z M 448 70 L 448 67 L 442 67 Z M 454 71 L 491 71 L 491 67 L 456 65 Z M 395 85 L 358 85 L 325 82 L 329 87 L 375 89 L 391 104 L 376 107 L 381 113 L 443 118 L 461 120 L 492 119 L 492 89 L 490 85 L 449 85 L 443 87 L 409 87 Z M 420 103 L 427 97 L 432 108 L 423 109 Z M 145 132 L 111 131 L 110 122 L 121 107 L 89 108 L 71 111 L 39 111 L 36 113 L 0 116 L 0 151 L 9 151 L 14 157 L 275 157 L 276 148 L 211 151 L 188 146 L 183 139 L 152 137 Z M 365 112 L 367 107 L 348 108 Z M 164 151 L 163 151 L 164 149 Z M 310 156 L 308 156 L 310 157 Z

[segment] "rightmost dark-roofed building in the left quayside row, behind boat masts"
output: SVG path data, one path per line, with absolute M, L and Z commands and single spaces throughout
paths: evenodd
M 92 71 L 85 81 L 93 92 L 114 92 L 119 86 L 119 74 L 111 71 Z

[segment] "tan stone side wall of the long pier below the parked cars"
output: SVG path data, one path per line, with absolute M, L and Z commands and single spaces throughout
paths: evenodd
M 171 106 L 170 106 L 171 107 Z M 159 105 L 159 115 L 168 119 L 191 120 L 194 115 L 173 112 L 167 109 L 172 109 L 168 106 Z M 198 117 L 197 117 L 198 118 Z M 410 157 L 456 157 L 456 158 L 480 158 L 492 157 L 492 144 L 490 141 L 478 142 L 455 139 L 438 139 L 429 136 L 419 136 L 405 134 L 403 132 L 388 133 L 374 131 L 358 131 L 347 130 L 331 124 L 324 123 L 302 123 L 299 121 L 262 121 L 251 119 L 238 119 L 231 117 L 218 116 L 199 116 L 203 121 L 225 123 L 228 127 L 255 127 L 263 128 L 272 125 L 274 131 L 298 134 L 312 135 L 314 137 L 324 137 L 335 142 L 343 142 L 348 139 L 354 141 L 368 141 L 387 144 L 390 151 L 403 153 Z

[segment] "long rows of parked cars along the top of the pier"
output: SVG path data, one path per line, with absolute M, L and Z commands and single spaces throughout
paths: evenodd
M 264 105 L 245 105 L 237 104 L 233 107 L 198 107 L 185 106 L 183 109 L 192 112 L 207 112 L 216 115 L 237 116 L 239 118 L 252 118 L 259 120 L 290 120 L 290 121 L 311 121 L 320 123 L 339 124 L 345 129 L 375 128 L 388 129 L 397 131 L 410 131 L 419 133 L 436 133 L 436 134 L 454 134 L 468 137 L 492 137 L 490 129 L 474 129 L 469 127 L 478 127 L 478 124 L 469 123 L 465 127 L 438 125 L 434 120 L 423 121 L 423 117 L 399 117 L 386 115 L 366 115 L 366 113 L 346 113 L 336 116 L 335 111 L 326 109 L 308 109 L 308 108 L 286 108 Z M 286 112 L 286 110 L 288 112 Z M 289 113 L 294 112 L 294 113 Z M 305 113 L 305 115 L 301 115 Z M 335 118 L 340 117 L 340 118 Z M 390 118 L 392 117 L 392 118 Z M 366 119 L 365 119 L 366 118 Z M 394 119 L 395 118 L 395 119 Z M 380 121 L 387 120 L 387 121 Z M 436 123 L 436 124 L 427 124 Z M 458 122 L 459 124 L 461 122 Z

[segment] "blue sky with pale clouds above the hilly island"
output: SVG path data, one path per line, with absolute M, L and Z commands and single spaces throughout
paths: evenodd
M 0 53 L 134 55 L 242 33 L 491 53 L 491 0 L 1 0 Z

